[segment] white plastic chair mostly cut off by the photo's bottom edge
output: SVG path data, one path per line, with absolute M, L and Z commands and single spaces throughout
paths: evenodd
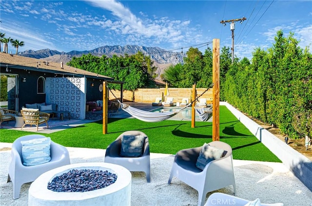
M 245 200 L 232 195 L 215 192 L 208 197 L 205 206 L 244 206 L 251 201 Z M 261 200 L 260 200 L 261 202 Z M 265 204 L 261 203 L 261 206 L 284 206 L 283 203 Z

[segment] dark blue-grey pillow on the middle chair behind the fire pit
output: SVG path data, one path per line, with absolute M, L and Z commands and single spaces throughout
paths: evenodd
M 124 135 L 121 138 L 120 155 L 125 157 L 138 157 L 143 154 L 144 136 Z

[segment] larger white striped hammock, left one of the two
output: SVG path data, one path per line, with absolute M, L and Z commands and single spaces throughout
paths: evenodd
M 138 120 L 147 121 L 147 122 L 158 122 L 158 121 L 162 121 L 162 120 L 168 120 L 169 118 L 175 116 L 181 110 L 183 110 L 186 107 L 188 107 L 189 105 L 191 105 L 191 103 L 189 103 L 188 105 L 186 105 L 186 106 L 182 107 L 181 109 L 176 110 L 174 112 L 159 112 L 159 113 L 158 112 L 148 112 L 148 111 L 144 111 L 141 109 L 137 109 L 137 108 L 132 107 L 126 103 L 120 103 L 120 105 L 121 105 L 121 109 L 123 111 L 129 113 L 131 116 L 137 118 Z

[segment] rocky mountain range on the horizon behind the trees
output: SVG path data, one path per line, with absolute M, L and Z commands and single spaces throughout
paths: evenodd
M 64 62 L 65 64 L 69 62 L 72 57 L 80 57 L 83 54 L 91 53 L 94 56 L 106 55 L 107 57 L 112 57 L 114 54 L 117 56 L 124 54 L 136 54 L 137 51 L 141 51 L 144 55 L 151 56 L 154 61 L 154 65 L 158 68 L 156 74 L 159 77 L 169 65 L 176 65 L 178 63 L 183 63 L 183 57 L 185 53 L 166 51 L 159 47 L 144 47 L 137 45 L 126 45 L 126 46 L 103 46 L 90 51 L 57 51 L 50 49 L 42 49 L 38 51 L 26 50 L 19 52 L 21 56 L 32 57 L 36 59 L 43 59 L 45 61 L 53 62 Z

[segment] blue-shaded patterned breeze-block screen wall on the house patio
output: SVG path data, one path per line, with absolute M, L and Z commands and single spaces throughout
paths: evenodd
M 69 111 L 73 119 L 85 119 L 86 78 L 47 78 L 46 102 L 58 104 L 59 111 Z

